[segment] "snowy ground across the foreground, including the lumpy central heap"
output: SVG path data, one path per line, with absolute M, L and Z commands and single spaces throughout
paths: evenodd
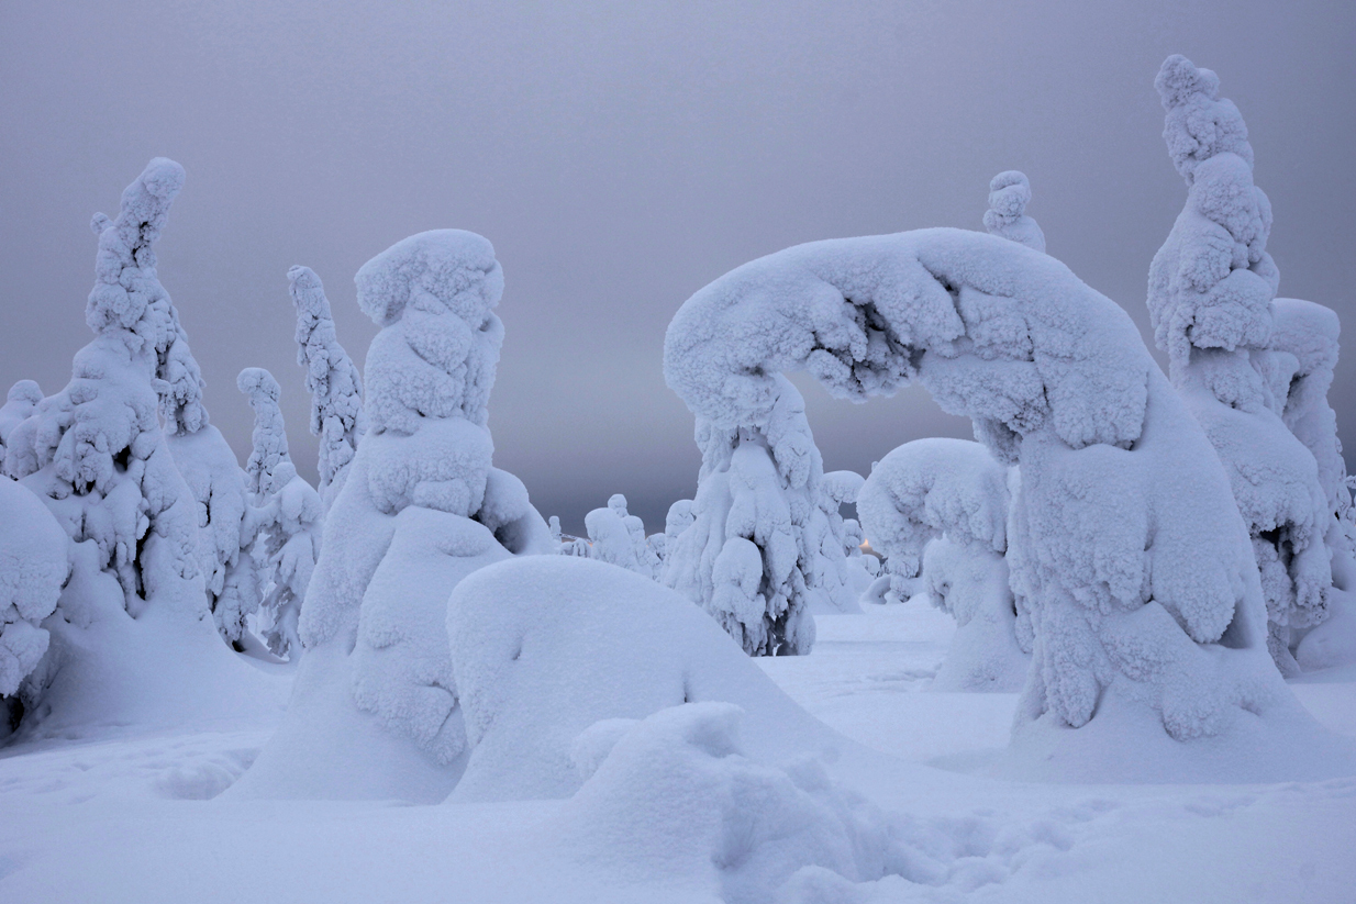
M 681 706 L 629 737 L 644 722 L 603 726 L 601 745 L 616 756 L 589 770 L 589 794 L 568 800 L 240 801 L 218 792 L 277 716 L 229 726 L 188 717 L 161 732 L 7 748 L 0 900 L 1351 900 L 1356 781 L 1051 786 L 960 774 L 1006 744 L 1017 698 L 921 693 L 955 622 L 922 599 L 816 621 L 814 653 L 753 665 L 827 725 L 888 754 L 871 767 L 820 763 L 819 773 L 812 762 L 750 758 L 735 752 L 753 740 L 747 717 L 731 744 L 730 720 L 689 718 L 682 710 L 697 707 Z M 1353 679 L 1311 675 L 1291 687 L 1330 728 L 1356 736 Z M 651 819 L 609 806 L 621 793 Z M 835 800 L 856 802 L 856 821 Z M 865 839 L 885 828 L 907 854 L 902 874 L 838 873 L 850 858 L 804 843 L 831 842 L 835 825 L 857 825 Z M 717 866 L 713 851 L 734 855 Z M 778 878 L 767 863 L 795 861 L 804 865 L 780 899 L 758 888 Z

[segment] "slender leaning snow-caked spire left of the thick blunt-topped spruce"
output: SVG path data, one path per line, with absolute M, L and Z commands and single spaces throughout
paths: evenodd
M 335 320 L 320 276 L 311 267 L 287 271 L 297 306 L 297 363 L 306 369 L 311 432 L 320 436 L 320 499 L 328 510 L 343 489 L 358 440 L 367 432 L 362 377 L 335 335 Z

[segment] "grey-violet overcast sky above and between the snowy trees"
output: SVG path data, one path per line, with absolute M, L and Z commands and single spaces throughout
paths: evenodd
M 160 278 L 241 461 L 235 378 L 262 366 L 315 476 L 287 267 L 324 279 L 361 366 L 376 327 L 354 272 L 454 226 L 504 268 L 495 464 L 567 530 L 613 492 L 656 530 L 700 464 L 663 384 L 664 328 L 753 258 L 982 229 L 989 179 L 1017 168 L 1050 253 L 1150 337 L 1149 262 L 1185 198 L 1153 87 L 1170 53 L 1219 72 L 1248 121 L 1281 294 L 1352 329 L 1351 0 L 4 3 L 0 389 L 69 379 L 89 340 L 89 215 L 168 156 L 188 176 Z M 1351 451 L 1353 362 L 1333 392 Z M 829 469 L 970 435 L 921 389 L 857 407 L 797 384 Z

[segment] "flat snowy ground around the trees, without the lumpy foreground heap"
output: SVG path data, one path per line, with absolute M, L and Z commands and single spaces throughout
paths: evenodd
M 945 870 L 824 901 L 1356 900 L 1356 777 L 1272 786 L 993 782 L 1016 697 L 933 694 L 953 630 L 921 600 L 820 617 L 808 657 L 759 660 L 799 703 L 890 754 L 839 775 Z M 281 679 L 279 680 L 285 680 Z M 1356 736 L 1356 670 L 1292 683 Z M 571 852 L 561 802 L 210 800 L 270 725 L 45 741 L 0 754 L 0 901 L 697 901 Z M 904 760 L 904 762 L 900 762 Z M 933 768 L 936 767 L 936 768 Z

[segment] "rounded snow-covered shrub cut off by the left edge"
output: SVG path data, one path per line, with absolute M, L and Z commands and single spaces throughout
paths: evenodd
M 19 694 L 47 652 L 49 636 L 41 625 L 56 610 L 71 575 L 69 545 L 42 500 L 0 477 L 0 698 Z M 24 697 L 23 705 L 30 706 L 33 697 Z M 0 736 L 9 728 L 0 724 Z

